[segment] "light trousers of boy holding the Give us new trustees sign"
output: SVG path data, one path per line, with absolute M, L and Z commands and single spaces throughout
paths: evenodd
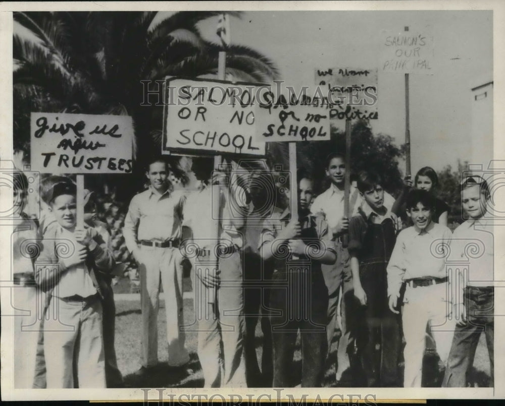
M 49 309 L 58 309 L 58 317 L 44 320 L 47 388 L 73 388 L 74 363 L 79 388 L 105 388 L 100 298 L 66 301 L 53 296 Z

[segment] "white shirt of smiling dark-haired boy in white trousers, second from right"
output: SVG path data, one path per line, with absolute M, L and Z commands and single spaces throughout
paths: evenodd
M 387 265 L 387 294 L 398 296 L 404 280 L 446 277 L 445 259 L 451 231 L 431 222 L 425 229 L 416 226 L 400 231 Z

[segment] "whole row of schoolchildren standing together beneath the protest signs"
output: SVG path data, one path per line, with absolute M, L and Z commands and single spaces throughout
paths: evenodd
M 118 257 L 130 253 L 141 284 L 139 375 L 158 363 L 161 285 L 168 363 L 189 361 L 185 330 L 191 328 L 182 321 L 182 262 L 189 259 L 206 387 L 321 386 L 336 337 L 336 385 L 420 387 L 427 326 L 445 369 L 443 386 L 467 385 L 481 332 L 493 385 L 493 239 L 483 178 L 462 180 L 466 221 L 452 234 L 449 207 L 434 195 L 438 182 L 430 167 L 419 170 L 414 185 L 406 178 L 396 200 L 384 191 L 380 173 L 360 172 L 350 191 L 350 218 L 342 155 L 328 156 L 331 184 L 317 197 L 314 177 L 298 170 L 297 213 L 286 199 L 255 186 L 264 174 L 252 169 L 248 180 L 236 182 L 232 173 L 213 169 L 213 159 L 194 158 L 191 170 L 201 186 L 183 193 L 171 187 L 162 158 L 147 162 L 148 189 L 133 197 L 124 217 L 128 252 L 121 251 L 120 233 L 110 234 L 120 214 L 109 208 L 111 223 L 100 221 L 91 191 L 85 191 L 85 222 L 78 226 L 75 184 L 52 177 L 42 185 L 45 215 L 35 222 L 23 212 L 26 179 L 15 175 L 13 272 L 24 289 L 14 289 L 13 303 L 35 309 L 43 297 L 42 312 L 58 309 L 57 318 L 34 318 L 38 335 L 17 318 L 17 387 L 122 386 L 111 272 Z M 38 257 L 20 254 L 27 240 L 39 245 Z M 482 255 L 468 255 L 474 240 L 483 242 Z M 451 272 L 452 260 L 467 260 L 466 274 Z M 298 333 L 301 379 L 293 361 Z

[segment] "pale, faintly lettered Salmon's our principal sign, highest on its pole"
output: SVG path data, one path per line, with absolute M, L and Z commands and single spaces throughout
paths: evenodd
M 433 34 L 430 26 L 422 31 L 384 31 L 380 38 L 381 72 L 433 74 Z

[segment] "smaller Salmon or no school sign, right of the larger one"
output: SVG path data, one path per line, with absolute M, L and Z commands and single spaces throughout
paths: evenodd
M 257 140 L 261 142 L 329 140 L 329 110 L 326 107 L 294 104 L 282 96 L 270 105 L 259 104 L 256 108 Z

